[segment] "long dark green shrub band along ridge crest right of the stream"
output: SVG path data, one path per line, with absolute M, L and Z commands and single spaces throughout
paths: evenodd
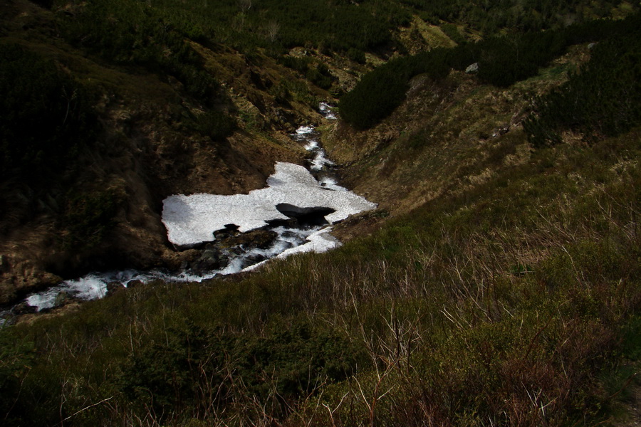
M 604 40 L 625 32 L 625 28 L 637 23 L 637 16 L 627 18 L 625 23 L 590 21 L 562 30 L 494 36 L 391 60 L 364 75 L 353 90 L 341 97 L 340 117 L 358 129 L 368 129 L 405 100 L 410 78 L 424 73 L 441 80 L 450 69 L 465 70 L 471 63 L 479 63 L 481 82 L 506 88 L 536 75 L 540 67 L 571 44 Z

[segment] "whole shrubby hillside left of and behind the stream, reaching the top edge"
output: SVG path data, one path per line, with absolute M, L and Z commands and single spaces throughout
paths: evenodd
M 179 265 L 159 221 L 165 196 L 264 185 L 276 159 L 302 158 L 286 133 L 389 58 L 634 9 L 501 4 L 481 22 L 459 6 L 4 3 L 0 303 L 59 276 Z

